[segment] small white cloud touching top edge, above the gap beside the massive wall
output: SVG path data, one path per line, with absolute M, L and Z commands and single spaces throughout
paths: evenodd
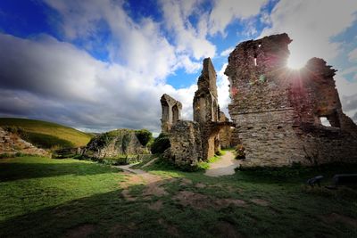
M 210 34 L 225 35 L 228 24 L 234 20 L 245 20 L 257 15 L 267 0 L 231 1 L 215 0 L 210 14 Z

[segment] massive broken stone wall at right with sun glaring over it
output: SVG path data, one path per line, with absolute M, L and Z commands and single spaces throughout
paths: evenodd
M 342 112 L 336 70 L 316 58 L 302 70 L 287 69 L 290 42 L 286 34 L 250 40 L 228 57 L 228 110 L 245 146 L 244 165 L 357 161 L 357 127 Z

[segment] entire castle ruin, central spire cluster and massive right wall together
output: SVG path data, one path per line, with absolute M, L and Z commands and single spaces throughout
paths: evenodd
M 240 144 L 247 167 L 356 162 L 357 126 L 342 111 L 336 70 L 318 58 L 301 70 L 288 69 L 291 41 L 285 33 L 263 37 L 242 42 L 229 54 L 225 74 L 233 123 L 220 112 L 209 58 L 197 82 L 194 121 L 180 120 L 181 104 L 163 94 L 162 132 L 169 133 L 171 144 L 167 157 L 179 166 L 194 166 L 222 145 Z

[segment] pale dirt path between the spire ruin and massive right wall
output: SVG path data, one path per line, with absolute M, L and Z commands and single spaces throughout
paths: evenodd
M 232 152 L 226 152 L 220 160 L 210 164 L 210 168 L 206 170 L 206 176 L 228 176 L 234 175 L 235 168 L 239 166 L 239 160 L 235 159 Z

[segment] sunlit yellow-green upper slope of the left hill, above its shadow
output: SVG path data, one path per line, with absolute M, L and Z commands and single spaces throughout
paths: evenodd
M 1 126 L 22 127 L 31 133 L 53 135 L 59 137 L 60 139 L 69 141 L 75 146 L 86 145 L 92 137 L 92 135 L 71 127 L 64 127 L 52 122 L 35 119 L 1 118 L 0 127 Z

